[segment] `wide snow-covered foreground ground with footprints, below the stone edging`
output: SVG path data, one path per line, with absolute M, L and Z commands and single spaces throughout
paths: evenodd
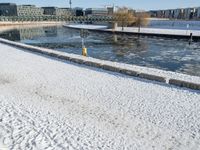
M 0 149 L 200 149 L 200 93 L 0 44 Z

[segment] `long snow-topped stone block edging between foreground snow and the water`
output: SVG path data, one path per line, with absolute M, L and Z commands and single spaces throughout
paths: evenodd
M 59 52 L 59 51 L 55 51 L 55 50 L 51 50 L 51 49 L 47 49 L 47 48 L 30 46 L 30 45 L 26 45 L 26 44 L 22 44 L 22 43 L 18 43 L 18 42 L 5 40 L 2 38 L 0 38 L 0 43 L 4 43 L 4 44 L 10 45 L 10 46 L 15 46 L 15 47 L 22 48 L 24 50 L 29 50 L 32 52 L 37 52 L 40 54 L 45 54 L 45 55 L 55 57 L 58 59 L 71 61 L 71 62 L 78 63 L 78 64 L 83 64 L 83 65 L 90 66 L 90 67 L 95 67 L 95 68 L 100 68 L 100 69 L 104 69 L 107 71 L 121 73 L 124 75 L 139 77 L 142 79 L 157 81 L 157 82 L 166 83 L 169 85 L 174 85 L 174 86 L 179 86 L 179 87 L 185 87 L 185 88 L 189 88 L 189 89 L 193 89 L 193 90 L 200 90 L 200 84 L 198 84 L 198 83 L 193 83 L 193 82 L 188 82 L 188 81 L 173 79 L 173 78 L 167 79 L 165 76 L 158 76 L 158 75 L 148 74 L 148 73 L 144 73 L 144 72 L 139 72 L 134 69 L 126 69 L 126 68 L 118 67 L 118 66 L 108 64 L 108 63 L 106 63 L 102 60 L 98 60 L 98 59 L 95 59 L 98 61 L 90 60 L 87 57 L 83 57 L 83 56 L 79 56 L 79 55 L 75 55 L 75 54 L 64 53 L 64 52 Z

